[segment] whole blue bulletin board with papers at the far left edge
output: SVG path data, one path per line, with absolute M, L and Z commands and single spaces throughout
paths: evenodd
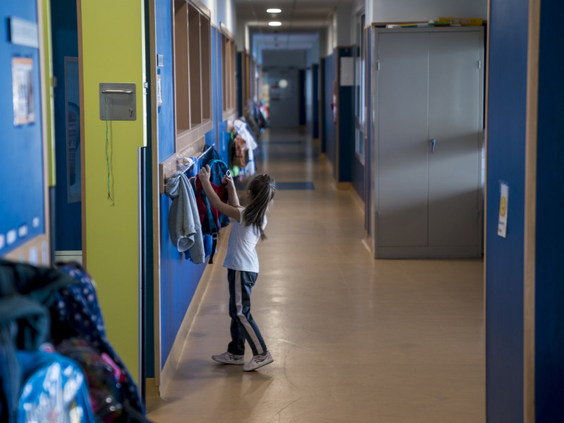
M 49 264 L 37 16 L 35 0 L 0 4 L 0 257 Z

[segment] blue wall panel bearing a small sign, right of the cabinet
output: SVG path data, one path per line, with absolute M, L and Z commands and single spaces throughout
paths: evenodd
M 492 0 L 486 216 L 486 414 L 523 421 L 523 239 L 527 0 Z M 497 235 L 499 180 L 509 184 L 507 238 Z

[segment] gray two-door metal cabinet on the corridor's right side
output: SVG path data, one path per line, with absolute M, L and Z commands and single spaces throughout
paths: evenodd
M 482 254 L 482 27 L 376 29 L 376 258 Z

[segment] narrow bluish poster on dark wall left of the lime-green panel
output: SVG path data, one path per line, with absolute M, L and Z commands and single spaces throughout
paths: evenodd
M 67 201 L 79 202 L 80 195 L 80 85 L 78 58 L 65 57 L 66 180 Z

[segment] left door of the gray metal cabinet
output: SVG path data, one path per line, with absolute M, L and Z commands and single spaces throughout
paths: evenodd
M 429 37 L 381 34 L 376 97 L 379 247 L 427 245 Z

